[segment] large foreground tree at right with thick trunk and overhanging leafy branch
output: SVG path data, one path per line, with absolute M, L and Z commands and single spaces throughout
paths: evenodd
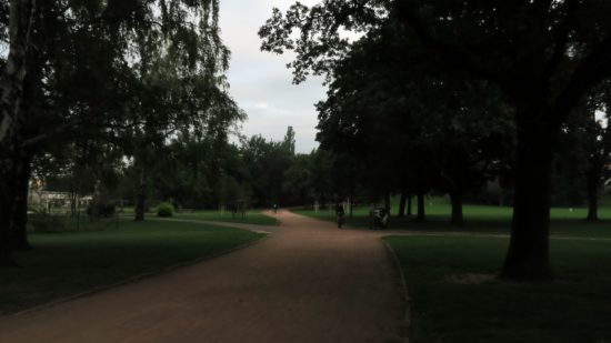
M 298 52 L 296 79 L 329 71 L 350 49 L 339 28 L 369 32 L 399 19 L 429 56 L 495 83 L 514 108 L 515 199 L 502 276 L 551 278 L 550 173 L 554 141 L 580 99 L 611 74 L 607 1 L 339 1 L 287 16 L 274 10 L 261 29 L 263 49 Z M 301 30 L 299 38 L 289 34 Z M 330 58 L 329 58 L 330 57 Z

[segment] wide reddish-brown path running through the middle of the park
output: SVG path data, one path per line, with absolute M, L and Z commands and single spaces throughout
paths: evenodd
M 268 239 L 142 281 L 0 320 L 0 342 L 400 342 L 380 234 L 290 212 Z M 236 225 L 238 226 L 238 225 Z

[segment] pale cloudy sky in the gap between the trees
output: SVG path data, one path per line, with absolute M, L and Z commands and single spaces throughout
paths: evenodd
M 228 72 L 230 92 L 238 105 L 248 114 L 242 134 L 261 134 L 280 141 L 289 125 L 296 131 L 296 151 L 309 153 L 318 147 L 318 123 L 314 103 L 324 100 L 327 88 L 321 78 L 310 78 L 299 85 L 292 84 L 292 74 L 286 64 L 293 54 L 282 56 L 260 51 L 257 32 L 271 16 L 273 7 L 280 10 L 293 0 L 221 0 L 221 37 L 231 50 Z M 301 0 L 313 4 L 318 0 Z

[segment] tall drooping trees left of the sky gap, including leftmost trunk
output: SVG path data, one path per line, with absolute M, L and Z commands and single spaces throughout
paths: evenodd
M 97 194 L 129 160 L 142 209 L 169 138 L 222 141 L 244 118 L 228 93 L 218 12 L 216 0 L 0 2 L 0 265 L 30 248 L 34 171 L 88 175 L 78 180 Z

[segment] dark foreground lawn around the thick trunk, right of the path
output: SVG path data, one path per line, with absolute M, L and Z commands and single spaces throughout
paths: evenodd
M 411 299 L 410 342 L 611 342 L 611 241 L 551 240 L 555 281 L 494 275 L 508 240 L 390 236 Z

